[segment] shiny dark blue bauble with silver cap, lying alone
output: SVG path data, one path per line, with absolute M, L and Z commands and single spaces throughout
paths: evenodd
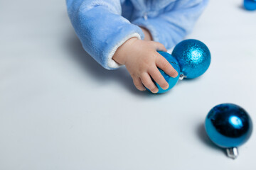
M 235 104 L 223 103 L 210 110 L 205 121 L 210 140 L 227 149 L 228 157 L 238 157 L 238 148 L 252 134 L 250 115 Z

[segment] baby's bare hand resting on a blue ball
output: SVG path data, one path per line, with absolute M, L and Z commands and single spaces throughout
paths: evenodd
M 151 77 L 162 89 L 169 87 L 157 67 L 170 77 L 177 77 L 178 72 L 156 50 L 166 52 L 166 48 L 160 42 L 130 38 L 117 49 L 112 59 L 126 66 L 137 89 L 144 91 L 146 86 L 152 93 L 157 93 L 158 89 Z

